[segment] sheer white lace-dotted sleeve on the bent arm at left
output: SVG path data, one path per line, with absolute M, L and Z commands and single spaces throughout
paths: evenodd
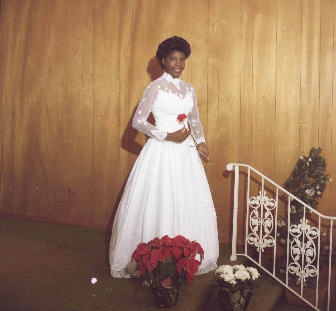
M 140 100 L 139 106 L 133 117 L 133 127 L 146 135 L 164 141 L 167 132 L 155 127 L 153 124 L 147 122 L 147 118 L 152 111 L 159 88 L 154 83 L 151 83 L 144 91 Z

